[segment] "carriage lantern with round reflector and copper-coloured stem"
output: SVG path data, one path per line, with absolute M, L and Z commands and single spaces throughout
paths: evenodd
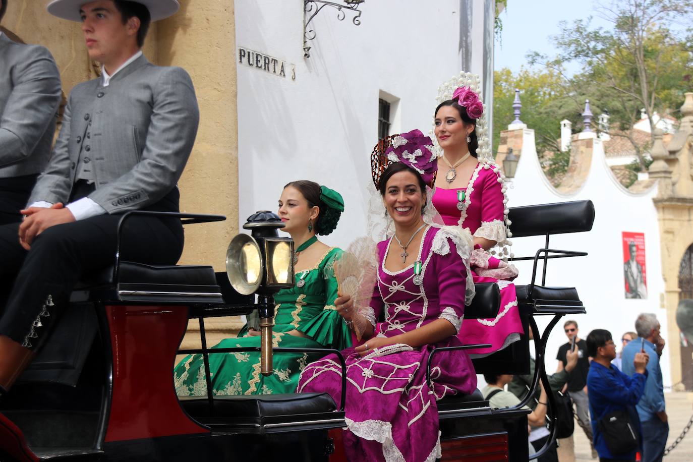
M 250 215 L 243 229 L 251 234 L 238 234 L 226 252 L 226 273 L 239 294 L 258 294 L 261 332 L 261 373 L 272 375 L 272 327 L 274 326 L 274 294 L 294 285 L 294 242 L 280 238 L 283 228 L 279 216 L 270 211 Z

